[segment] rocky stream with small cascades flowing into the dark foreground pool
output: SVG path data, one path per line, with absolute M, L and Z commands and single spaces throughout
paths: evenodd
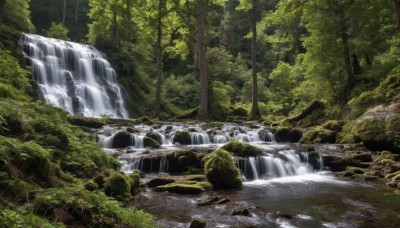
M 135 140 L 125 148 L 110 147 L 116 133 L 126 131 L 126 126 L 107 126 L 98 132 L 98 138 L 108 153 L 118 157 L 125 173 L 144 169 L 144 158 L 152 157 L 143 183 L 170 175 L 165 156 L 171 151 L 213 151 L 233 139 L 263 151 L 259 157 L 235 158 L 244 180 L 241 189 L 177 195 L 146 188 L 139 193 L 135 207 L 153 214 L 159 227 L 189 227 L 195 218 L 206 221 L 207 227 L 400 227 L 400 197 L 384 183 L 336 177 L 321 158 L 317 164 L 310 164 L 300 145 L 279 142 L 269 127 L 225 124 L 204 129 L 177 123 L 130 127 L 136 129 L 130 133 Z M 189 145 L 173 143 L 178 131 L 190 133 Z M 161 135 L 160 149 L 144 147 L 140 139 L 148 132 Z M 336 153 L 334 145 L 316 147 Z M 229 202 L 197 205 L 212 196 Z M 238 209 L 248 209 L 250 216 L 233 216 Z

